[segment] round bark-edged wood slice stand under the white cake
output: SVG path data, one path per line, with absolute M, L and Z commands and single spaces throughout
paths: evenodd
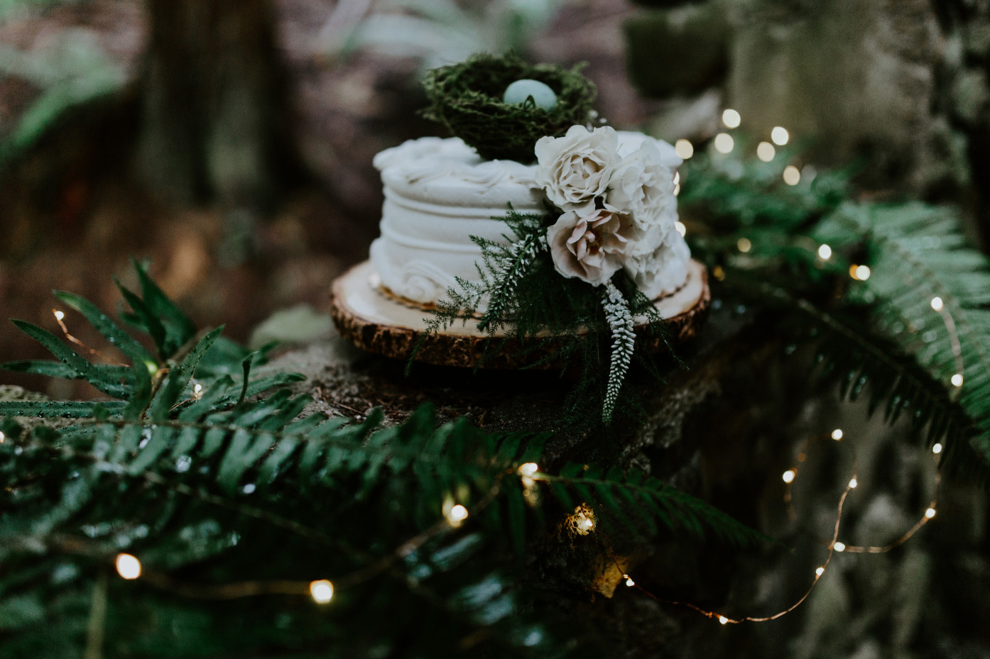
M 687 281 L 671 295 L 656 300 L 654 305 L 660 316 L 667 320 L 672 341 L 686 340 L 698 333 L 708 314 L 711 292 L 708 288 L 708 272 L 698 261 L 688 264 Z M 364 261 L 347 270 L 334 281 L 331 314 L 337 329 L 357 347 L 398 359 L 408 359 L 416 344 L 427 333 L 424 319 L 430 312 L 411 302 L 403 302 L 384 290 L 370 261 Z M 428 333 L 416 355 L 416 361 L 442 366 L 479 366 L 482 368 L 523 368 L 545 359 L 555 351 L 552 341 L 541 351 L 522 351 L 518 343 L 507 341 L 500 349 L 481 356 L 488 343 L 489 334 L 476 329 L 477 322 L 468 319 L 465 324 L 438 333 Z M 642 327 L 642 326 L 641 326 Z M 505 333 L 496 331 L 495 337 Z M 561 337 L 560 340 L 573 340 Z M 637 350 L 664 349 L 658 337 L 637 332 Z M 542 367 L 559 366 L 552 360 Z

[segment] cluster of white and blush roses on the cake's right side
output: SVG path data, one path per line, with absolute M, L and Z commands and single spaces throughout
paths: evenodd
M 563 211 L 546 232 L 557 272 L 599 286 L 625 268 L 650 298 L 683 283 L 690 252 L 674 229 L 681 158 L 670 144 L 572 126 L 536 154 L 537 184 Z

